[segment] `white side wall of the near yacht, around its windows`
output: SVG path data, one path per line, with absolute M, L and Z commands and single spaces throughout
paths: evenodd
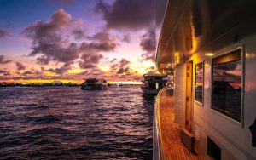
M 221 157 L 224 160 L 256 159 L 256 148 L 252 146 L 252 134 L 248 129 L 256 118 L 256 34 L 212 53 L 222 54 L 237 47 L 243 47 L 245 50 L 245 53 L 243 53 L 245 54 L 245 89 L 241 123 L 211 108 L 212 57 L 206 56 L 206 53 L 198 52 L 189 58 L 189 60 L 193 60 L 193 95 L 195 64 L 200 63 L 202 60 L 205 62 L 204 103 L 201 105 L 193 100 L 193 115 L 194 122 L 200 129 L 200 140 L 197 142 L 197 145 L 200 146 L 198 153 L 206 157 L 208 136 L 221 148 Z M 181 125 L 184 125 L 185 122 L 185 67 L 185 63 L 178 65 L 175 73 L 176 122 Z

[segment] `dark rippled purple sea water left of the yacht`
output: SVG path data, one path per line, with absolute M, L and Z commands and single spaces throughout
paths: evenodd
M 153 111 L 138 86 L 0 88 L 0 159 L 152 159 Z

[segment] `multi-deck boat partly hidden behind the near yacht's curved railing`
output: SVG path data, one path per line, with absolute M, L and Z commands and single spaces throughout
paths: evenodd
M 143 75 L 143 86 L 141 87 L 143 94 L 158 94 L 160 89 L 167 84 L 166 75 L 152 73 Z

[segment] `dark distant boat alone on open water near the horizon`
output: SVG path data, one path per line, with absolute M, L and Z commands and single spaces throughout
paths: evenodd
M 84 83 L 82 83 L 81 89 L 89 90 L 89 89 L 108 89 L 108 83 L 105 79 L 96 79 L 96 78 L 88 78 L 85 79 Z

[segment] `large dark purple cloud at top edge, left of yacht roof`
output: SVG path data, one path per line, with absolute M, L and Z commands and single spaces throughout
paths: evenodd
M 98 1 L 96 13 L 101 13 L 108 28 L 140 29 L 154 23 L 154 0 L 116 0 L 111 5 Z

